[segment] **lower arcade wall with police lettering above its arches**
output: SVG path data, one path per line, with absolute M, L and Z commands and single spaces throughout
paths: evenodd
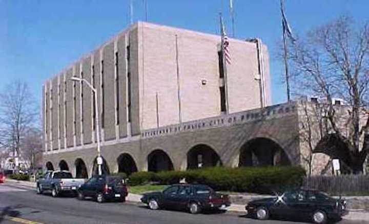
M 184 123 L 177 131 L 171 126 L 148 130 L 148 133 L 155 132 L 155 135 L 141 136 L 141 140 L 132 137 L 129 140 L 105 141 L 101 153 L 111 172 L 118 170 L 117 158 L 122 153 L 130 154 L 138 170 L 145 171 L 148 169 L 148 155 L 157 149 L 168 154 L 175 170 L 185 170 L 187 153 L 197 145 L 207 145 L 219 155 L 224 166 L 236 167 L 242 146 L 251 139 L 263 137 L 276 142 L 292 164 L 300 164 L 299 139 L 296 136 L 298 118 L 294 105 L 270 107 L 268 111 L 269 113 L 252 110 Z M 171 131 L 165 131 L 167 129 Z M 75 159 L 81 158 L 91 175 L 93 160 L 96 157 L 95 147 L 81 146 L 73 150 L 45 153 L 44 164 L 51 161 L 55 167 L 64 159 L 73 171 Z

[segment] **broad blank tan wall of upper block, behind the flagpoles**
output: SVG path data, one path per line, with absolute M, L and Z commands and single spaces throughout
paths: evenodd
M 142 129 L 221 113 L 219 36 L 147 23 L 138 24 L 138 35 Z M 260 107 L 259 81 L 255 80 L 258 74 L 256 44 L 230 39 L 230 52 L 232 64 L 227 65 L 229 112 Z M 268 59 L 268 50 L 264 47 L 266 92 L 269 94 Z M 206 85 L 202 80 L 206 80 Z M 267 101 L 270 104 L 270 96 Z

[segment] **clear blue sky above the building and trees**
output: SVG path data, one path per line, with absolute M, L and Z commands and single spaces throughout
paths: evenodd
M 229 0 L 147 0 L 149 22 L 219 33 L 220 11 L 231 31 Z M 279 0 L 233 0 L 236 38 L 261 37 L 270 51 L 273 103 L 286 99 Z M 144 21 L 143 0 L 134 0 L 134 21 Z M 26 81 L 37 99 L 45 79 L 72 64 L 130 24 L 130 0 L 0 0 L 0 88 Z M 285 0 L 294 33 L 304 33 L 340 15 L 369 19 L 366 0 Z

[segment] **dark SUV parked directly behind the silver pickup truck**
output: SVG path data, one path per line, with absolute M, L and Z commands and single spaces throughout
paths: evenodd
M 106 200 L 126 201 L 128 189 L 125 181 L 119 176 L 93 176 L 78 188 L 78 199 L 92 197 L 97 202 Z

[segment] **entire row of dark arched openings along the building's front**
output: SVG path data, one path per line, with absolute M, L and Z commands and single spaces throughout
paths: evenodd
M 137 172 L 137 165 L 134 158 L 128 153 L 122 153 L 117 158 L 117 171 L 128 175 Z M 242 166 L 273 166 L 290 165 L 290 159 L 284 150 L 273 140 L 268 138 L 256 138 L 250 140 L 241 147 L 239 154 L 239 167 Z M 200 144 L 192 147 L 187 153 L 187 169 L 198 169 L 203 167 L 222 166 L 222 161 L 218 153 L 210 146 Z M 58 164 L 60 170 L 70 170 L 65 160 L 60 160 Z M 78 178 L 88 178 L 89 172 L 85 161 L 77 158 L 74 161 L 75 176 Z M 158 172 L 163 170 L 174 170 L 171 157 L 163 150 L 153 150 L 147 156 L 148 171 Z M 54 170 L 53 164 L 48 161 L 46 169 Z M 108 162 L 103 159 L 103 173 L 110 173 Z M 97 173 L 96 159 L 92 166 L 91 174 Z

